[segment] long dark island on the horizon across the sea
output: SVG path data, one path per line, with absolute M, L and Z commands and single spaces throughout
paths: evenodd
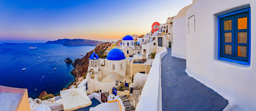
M 97 45 L 98 43 L 104 43 L 102 41 L 88 40 L 88 39 L 58 39 L 56 41 L 48 41 L 45 44 L 63 44 L 66 46 L 73 45 Z

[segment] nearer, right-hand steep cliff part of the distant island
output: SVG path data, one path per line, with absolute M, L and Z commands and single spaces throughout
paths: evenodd
M 69 39 L 66 40 L 63 45 L 97 45 L 98 43 L 104 43 L 102 41 L 87 40 L 87 39 Z

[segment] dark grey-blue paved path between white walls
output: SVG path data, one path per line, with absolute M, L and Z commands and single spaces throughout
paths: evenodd
M 228 105 L 211 88 L 189 77 L 186 60 L 171 56 L 171 48 L 161 60 L 163 111 L 223 111 Z

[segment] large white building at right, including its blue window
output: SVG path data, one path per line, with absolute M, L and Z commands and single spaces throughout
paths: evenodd
M 173 21 L 172 56 L 225 99 L 227 110 L 256 110 L 256 0 L 193 0 Z

